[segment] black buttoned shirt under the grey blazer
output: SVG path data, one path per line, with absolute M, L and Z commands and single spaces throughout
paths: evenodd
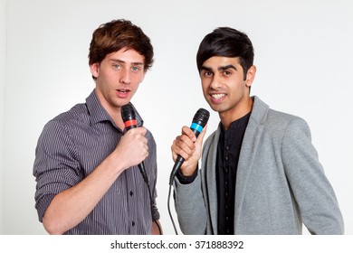
M 218 196 L 219 235 L 234 234 L 236 170 L 249 117 L 250 113 L 235 120 L 227 130 L 224 130 L 224 126 L 221 127 L 221 135 L 217 145 L 215 171 Z

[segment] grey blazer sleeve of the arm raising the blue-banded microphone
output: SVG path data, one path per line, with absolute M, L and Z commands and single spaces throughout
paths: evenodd
M 176 178 L 174 187 L 180 230 L 186 235 L 205 234 L 207 221 L 200 173 L 193 183 L 182 184 Z

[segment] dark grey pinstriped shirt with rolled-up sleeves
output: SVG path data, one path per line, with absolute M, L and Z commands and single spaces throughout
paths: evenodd
M 138 126 L 142 126 L 143 120 L 136 115 Z M 95 90 L 86 103 L 77 104 L 43 127 L 33 165 L 35 208 L 41 222 L 52 198 L 90 174 L 123 134 L 100 105 Z M 149 131 L 146 136 L 149 155 L 144 163 L 154 202 L 153 219 L 158 220 L 156 142 Z M 148 187 L 138 166 L 133 166 L 121 173 L 93 211 L 65 234 L 148 234 L 151 225 Z

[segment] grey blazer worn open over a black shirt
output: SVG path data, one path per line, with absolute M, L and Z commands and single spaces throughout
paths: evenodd
M 300 117 L 253 97 L 235 186 L 235 234 L 343 234 L 335 193 Z M 193 183 L 175 180 L 175 207 L 184 234 L 217 234 L 215 162 L 220 127 L 205 140 Z

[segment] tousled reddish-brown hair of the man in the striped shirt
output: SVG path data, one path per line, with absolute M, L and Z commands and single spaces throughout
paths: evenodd
M 118 52 L 125 47 L 144 56 L 145 71 L 152 67 L 153 47 L 148 36 L 137 25 L 124 19 L 103 23 L 94 31 L 90 45 L 89 64 L 100 63 L 107 54 Z

